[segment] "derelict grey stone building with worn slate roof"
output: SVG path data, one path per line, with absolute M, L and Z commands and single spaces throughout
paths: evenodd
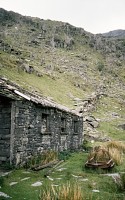
M 45 149 L 77 149 L 82 137 L 82 116 L 0 79 L 0 164 L 18 165 Z

